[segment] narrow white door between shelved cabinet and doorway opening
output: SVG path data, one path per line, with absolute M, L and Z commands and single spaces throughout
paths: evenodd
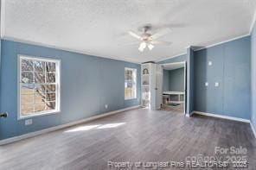
M 161 108 L 163 104 L 163 66 L 156 65 L 156 109 Z

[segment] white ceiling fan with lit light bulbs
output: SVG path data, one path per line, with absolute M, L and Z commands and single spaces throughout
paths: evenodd
M 143 52 L 146 47 L 148 47 L 149 50 L 152 50 L 155 47 L 155 45 L 170 46 L 171 42 L 169 41 L 157 41 L 157 39 L 162 37 L 163 35 L 169 34 L 171 32 L 170 28 L 163 28 L 162 30 L 160 30 L 155 34 L 150 34 L 151 28 L 152 27 L 150 25 L 146 25 L 143 28 L 140 28 L 140 30 L 142 31 L 141 35 L 138 35 L 131 30 L 128 31 L 129 35 L 138 39 L 138 41 L 140 42 L 138 46 L 138 51 Z M 128 45 L 136 44 L 138 43 L 138 41 L 131 42 Z

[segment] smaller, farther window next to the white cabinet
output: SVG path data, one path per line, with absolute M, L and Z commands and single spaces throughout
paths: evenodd
M 137 96 L 137 70 L 125 68 L 125 100 L 136 98 Z

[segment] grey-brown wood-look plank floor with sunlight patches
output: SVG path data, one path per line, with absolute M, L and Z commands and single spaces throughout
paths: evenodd
M 246 148 L 249 167 L 241 169 L 256 169 L 256 142 L 248 123 L 145 109 L 0 146 L 0 169 L 110 169 L 107 161 L 211 156 L 216 146 Z

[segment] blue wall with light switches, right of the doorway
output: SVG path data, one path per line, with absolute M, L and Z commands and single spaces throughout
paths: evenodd
M 194 110 L 250 119 L 250 43 L 246 36 L 195 52 Z

